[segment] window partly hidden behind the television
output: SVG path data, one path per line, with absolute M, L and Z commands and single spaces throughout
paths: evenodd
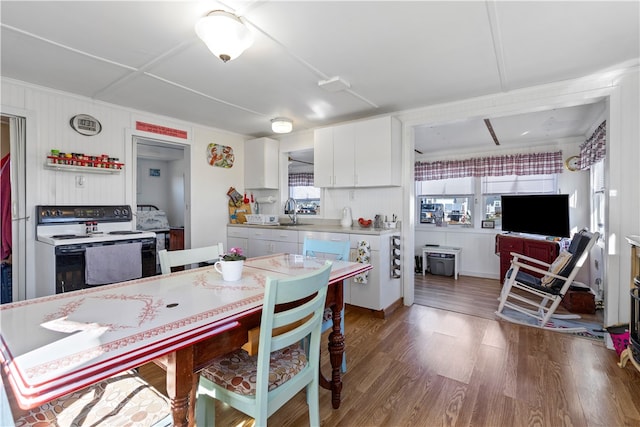
M 503 194 L 555 194 L 558 190 L 557 174 L 485 176 L 480 180 L 482 219 L 494 221 L 496 227 L 502 226 Z

